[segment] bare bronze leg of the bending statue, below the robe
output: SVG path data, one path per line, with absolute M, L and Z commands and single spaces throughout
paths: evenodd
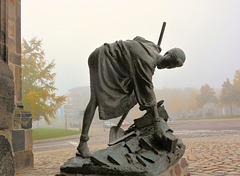
M 83 158 L 89 158 L 91 156 L 91 152 L 89 151 L 87 141 L 89 140 L 88 132 L 89 132 L 96 108 L 97 108 L 96 96 L 95 94 L 91 94 L 90 101 L 84 112 L 82 134 L 80 137 L 80 143 L 77 147 L 77 150 L 79 152 L 78 154 Z

